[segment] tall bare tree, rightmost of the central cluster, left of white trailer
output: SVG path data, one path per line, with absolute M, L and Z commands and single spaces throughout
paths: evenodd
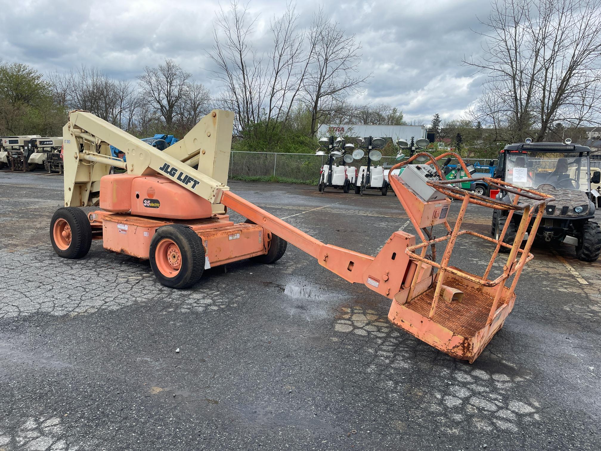
M 308 40 L 311 64 L 303 88 L 311 111 L 311 136 L 315 136 L 317 121 L 331 114 L 349 93 L 358 92 L 371 73 L 358 75 L 361 44 L 355 35 L 347 36 L 339 23 L 326 19 L 323 10 L 314 15 Z

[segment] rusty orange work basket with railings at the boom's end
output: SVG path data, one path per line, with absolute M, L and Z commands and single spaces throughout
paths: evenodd
M 484 180 L 489 186 L 502 191 L 514 194 L 513 203 L 505 203 L 482 195 L 477 195 L 465 189 L 453 186 L 458 180 L 444 180 L 442 171 L 437 161 L 447 155 L 453 155 L 459 159 L 466 173 L 468 173 L 462 159 L 452 153 L 445 153 L 434 158 L 429 153 L 418 153 L 406 162 L 395 165 L 392 169 L 406 165 L 419 156 L 427 156 L 436 168 L 442 180 L 427 182 L 442 194 L 462 201 L 459 215 L 450 229 L 447 223 L 447 235 L 441 238 L 424 239 L 421 244 L 407 247 L 406 253 L 412 262 L 415 262 L 416 269 L 410 282 L 409 292 L 403 291 L 397 293 L 388 313 L 388 318 L 398 327 L 403 328 L 414 336 L 426 343 L 440 349 L 441 351 L 452 355 L 453 357 L 468 360 L 472 363 L 483 351 L 493 335 L 498 331 L 510 313 L 515 302 L 514 289 L 517 280 L 522 272 L 525 263 L 532 259 L 529 250 L 534 241 L 534 236 L 545 210 L 545 204 L 553 198 L 550 195 L 537 192 L 532 189 L 525 189 L 520 186 L 511 185 L 511 183 L 490 177 L 476 177 L 473 179 L 462 179 L 465 181 Z M 411 198 L 407 195 L 407 186 L 399 176 L 391 177 L 392 188 L 397 193 L 401 204 L 407 210 L 416 230 L 419 231 L 418 222 L 423 222 L 423 218 L 416 218 L 412 215 L 415 212 L 415 204 L 410 204 Z M 532 202 L 529 204 L 520 204 L 521 197 L 528 198 Z M 477 204 L 497 210 L 508 210 L 508 218 L 505 227 L 498 239 L 475 233 L 470 230 L 460 230 L 468 204 Z M 503 242 L 511 217 L 515 210 L 522 210 L 522 221 L 520 221 L 517 230 L 517 236 L 513 245 Z M 523 238 L 534 216 L 531 233 L 528 235 L 523 249 L 520 249 Z M 422 219 L 422 221 L 419 221 Z M 428 232 L 423 229 L 428 235 Z M 421 235 L 421 233 L 420 233 Z M 495 245 L 489 263 L 486 266 L 484 274 L 481 276 L 471 274 L 449 265 L 454 245 L 460 235 L 471 235 Z M 440 263 L 426 256 L 430 247 L 436 244 L 447 242 L 447 248 L 444 251 Z M 502 274 L 494 280 L 489 279 L 490 271 L 495 263 L 501 247 L 508 248 L 509 255 L 505 262 Z M 435 250 L 433 250 L 435 255 Z M 438 269 L 436 275 L 429 280 L 419 280 L 419 274 L 423 266 Z M 513 276 L 511 285 L 505 286 L 508 278 Z M 451 294 L 449 294 L 451 293 Z M 454 302 L 453 295 L 463 293 L 459 302 Z M 457 296 L 458 297 L 458 296 Z

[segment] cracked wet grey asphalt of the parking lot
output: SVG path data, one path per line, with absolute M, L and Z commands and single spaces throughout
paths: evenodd
M 230 186 L 362 253 L 413 232 L 390 194 Z M 600 449 L 601 264 L 573 248 L 534 248 L 504 328 L 468 364 L 291 246 L 189 290 L 99 241 L 60 259 L 48 230 L 62 196 L 61 176 L 0 173 L 2 451 Z M 464 228 L 490 233 L 490 210 L 469 211 Z M 481 273 L 465 237 L 453 262 Z

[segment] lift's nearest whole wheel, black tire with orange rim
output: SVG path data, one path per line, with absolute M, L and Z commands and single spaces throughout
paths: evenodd
M 159 227 L 150 242 L 150 267 L 162 285 L 188 288 L 204 271 L 204 246 L 194 230 L 181 224 Z

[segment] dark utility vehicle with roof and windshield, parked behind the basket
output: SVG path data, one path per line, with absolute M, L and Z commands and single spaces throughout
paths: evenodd
M 601 253 L 601 229 L 593 221 L 596 192 L 591 183 L 600 182 L 601 171 L 591 174 L 591 149 L 565 143 L 510 144 L 499 153 L 495 178 L 552 195 L 555 200 L 545 207 L 535 238 L 550 245 L 561 242 L 576 247 L 576 256 L 585 262 L 594 262 Z M 500 191 L 496 199 L 511 203 L 514 195 Z M 522 197 L 522 202 L 528 199 Z M 504 242 L 513 243 L 517 235 L 520 212 L 514 212 L 505 233 Z M 498 238 L 507 221 L 507 212 L 494 210 L 491 233 Z

